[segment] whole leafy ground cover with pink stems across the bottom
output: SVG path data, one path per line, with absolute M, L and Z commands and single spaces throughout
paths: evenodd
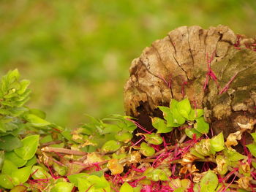
M 225 139 L 202 109 L 172 99 L 150 131 L 123 115 L 62 128 L 26 107 L 28 86 L 17 69 L 1 78 L 0 191 L 255 191 L 256 120 Z M 133 142 L 136 128 L 146 133 Z M 166 142 L 175 129 L 185 134 Z

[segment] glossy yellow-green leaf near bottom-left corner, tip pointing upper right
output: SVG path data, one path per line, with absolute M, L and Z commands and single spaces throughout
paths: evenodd
M 25 166 L 12 172 L 12 180 L 15 181 L 15 185 L 20 183 L 25 183 L 29 179 L 29 175 L 31 172 L 31 166 Z

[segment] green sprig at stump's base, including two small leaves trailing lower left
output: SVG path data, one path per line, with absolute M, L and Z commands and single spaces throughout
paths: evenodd
M 186 122 L 193 126 L 192 128 L 185 128 L 185 133 L 189 138 L 192 139 L 194 135 L 199 138 L 203 134 L 208 133 L 209 125 L 203 118 L 203 110 L 193 110 L 189 99 L 179 102 L 172 99 L 170 101 L 170 107 L 159 106 L 159 109 L 163 112 L 164 119 L 157 117 L 151 118 L 152 125 L 157 129 L 157 133 L 142 134 L 146 142 L 140 144 L 140 153 L 145 156 L 154 155 L 155 150 L 154 147 L 151 147 L 152 144 L 162 144 L 163 140 L 160 134 L 169 133 L 173 131 L 173 128 L 182 126 Z

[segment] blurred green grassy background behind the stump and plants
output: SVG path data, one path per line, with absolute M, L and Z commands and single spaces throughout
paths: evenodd
M 256 1 L 1 0 L 1 74 L 31 80 L 30 107 L 75 127 L 87 113 L 124 114 L 129 65 L 143 48 L 183 25 L 224 24 L 255 37 Z

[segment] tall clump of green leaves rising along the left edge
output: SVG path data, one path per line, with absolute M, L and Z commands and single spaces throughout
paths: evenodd
M 44 112 L 24 106 L 31 93 L 28 86 L 29 80 L 20 80 L 17 69 L 1 78 L 0 187 L 3 188 L 26 183 L 32 165 L 37 162 L 38 134 L 45 134 L 54 126 L 45 120 Z M 23 135 L 29 136 L 23 138 Z

